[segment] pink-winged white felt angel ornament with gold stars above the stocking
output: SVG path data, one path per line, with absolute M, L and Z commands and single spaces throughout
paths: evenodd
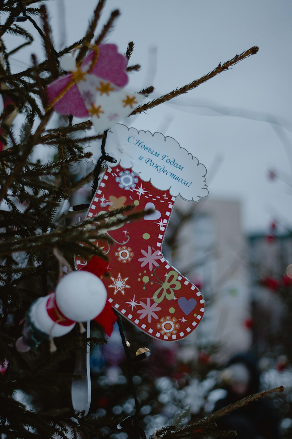
M 109 129 L 142 101 L 143 95 L 125 90 L 127 58 L 115 44 L 94 47 L 80 66 L 65 55 L 60 66 L 69 74 L 47 87 L 49 103 L 62 115 L 91 117 L 97 133 Z

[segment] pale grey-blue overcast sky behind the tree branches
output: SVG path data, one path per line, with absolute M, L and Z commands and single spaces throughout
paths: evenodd
M 59 48 L 64 38 L 69 44 L 83 36 L 97 0 L 45 3 Z M 142 65 L 141 72 L 130 75 L 130 90 L 154 85 L 155 94 L 163 94 L 259 47 L 256 55 L 173 104 L 126 123 L 174 137 L 204 163 L 210 197 L 242 202 L 246 231 L 267 230 L 274 219 L 292 227 L 292 187 L 267 178 L 273 169 L 292 183 L 292 2 L 108 0 L 101 24 L 116 8 L 122 15 L 107 42 L 124 53 L 134 40 L 130 63 Z M 24 26 L 32 30 L 30 23 Z M 28 62 L 34 51 L 41 59 L 41 50 L 31 46 L 14 58 Z M 20 66 L 15 58 L 15 69 Z M 269 122 L 277 120 L 280 125 Z

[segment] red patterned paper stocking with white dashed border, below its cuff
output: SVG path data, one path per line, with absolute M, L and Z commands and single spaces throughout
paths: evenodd
M 162 241 L 176 198 L 140 179 L 131 169 L 107 168 L 87 217 L 127 205 L 152 209 L 151 215 L 106 230 L 114 245 L 99 241 L 109 257 L 110 277 L 103 277 L 109 302 L 147 334 L 179 340 L 200 323 L 201 292 L 163 258 Z M 81 269 L 85 261 L 75 260 Z

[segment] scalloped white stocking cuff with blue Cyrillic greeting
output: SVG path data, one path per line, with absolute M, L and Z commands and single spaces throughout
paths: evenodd
M 117 124 L 108 132 L 106 153 L 116 158 L 115 166 L 132 168 L 142 180 L 169 190 L 173 197 L 199 201 L 208 195 L 205 166 L 172 137 Z

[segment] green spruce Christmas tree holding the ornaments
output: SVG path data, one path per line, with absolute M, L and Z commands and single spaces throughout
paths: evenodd
M 55 126 L 50 122 L 54 113 L 54 104 L 63 97 L 60 93 L 55 101 L 52 101 L 47 94 L 47 87 L 64 74 L 60 67 L 60 58 L 72 52 L 75 55 L 77 53 L 76 72 L 80 73 L 82 61 L 90 50 L 98 56 L 99 46 L 113 28 L 120 12 L 113 11 L 100 34 L 95 36 L 95 29 L 105 3 L 105 0 L 100 0 L 85 36 L 57 52 L 53 44 L 46 7 L 44 5 L 38 7 L 40 3 L 40 0 L 23 2 L 4 0 L 0 5 L 4 17 L 4 24 L 0 30 L 0 91 L 3 99 L 0 133 L 2 148 L 0 151 L 1 434 L 3 438 L 56 437 L 54 435 L 62 438 L 77 438 L 79 435 L 92 438 L 104 434 L 106 428 L 107 431 L 114 430 L 122 421 L 119 418 L 96 416 L 98 409 L 96 404 L 93 404 L 89 415 L 84 416 L 85 409 L 83 412 L 74 410 L 70 400 L 72 382 L 74 384 L 83 379 L 78 368 L 74 370 L 72 365 L 75 356 L 77 355 L 77 359 L 84 359 L 88 345 L 92 347 L 106 343 L 106 338 L 101 335 L 103 333 L 88 333 L 84 336 L 80 328 L 74 326 L 74 320 L 71 320 L 70 324 L 74 327 L 72 331 L 63 337 L 55 338 L 54 342 L 52 334 L 47 334 L 46 340 L 42 343 L 34 340 L 35 345 L 27 346 L 28 352 L 25 352 L 23 341 L 18 345 L 16 341 L 21 339 L 23 331 L 28 328 L 25 325 L 28 324 L 28 317 L 31 315 L 29 313 L 32 312 L 28 313 L 28 310 L 32 310 L 32 304 L 36 303 L 35 301 L 41 303 L 40 299 L 46 298 L 51 291 L 56 291 L 56 285 L 60 285 L 59 281 L 67 278 L 68 274 L 65 273 L 75 272 L 74 255 L 86 261 L 98 258 L 102 266 L 102 260 L 107 258 L 93 241 L 102 240 L 112 244 L 105 230 L 120 223 L 139 219 L 145 212 L 121 207 L 99 216 L 99 223 L 96 223 L 95 218 L 76 222 L 74 216 L 76 208 L 70 211 L 69 202 L 74 204 L 76 191 L 90 184 L 91 181 L 92 196 L 95 194 L 102 162 L 110 159 L 104 153 L 107 130 L 92 135 L 88 132 L 91 129 L 91 119 L 78 122 L 71 114 L 60 118 Z M 41 25 L 37 24 L 39 18 Z M 32 35 L 21 27 L 23 21 L 30 22 L 37 30 L 46 59 L 39 62 L 32 54 L 30 67 L 14 73 L 10 65 L 11 55 L 17 56 L 19 50 L 33 42 Z M 7 40 L 11 35 L 18 37 L 19 45 L 9 51 Z M 133 48 L 134 43 L 130 42 L 125 55 L 128 61 Z M 219 64 L 212 72 L 200 79 L 161 97 L 141 103 L 130 115 L 145 112 L 196 88 L 244 58 L 256 54 L 257 50 L 257 47 L 252 47 L 230 61 Z M 93 54 L 92 68 L 96 62 L 94 57 Z M 128 65 L 127 72 L 134 72 L 139 68 L 139 65 Z M 74 81 L 78 81 L 76 75 L 67 90 L 74 86 Z M 153 90 L 153 86 L 148 86 L 139 93 L 148 96 Z M 103 92 L 106 93 L 106 90 Z M 133 98 L 129 97 L 129 99 Z M 95 108 L 95 111 L 97 110 L 98 108 Z M 18 113 L 22 116 L 23 123 L 20 129 L 16 130 L 13 119 Z M 98 115 L 97 112 L 95 115 Z M 97 139 L 102 141 L 101 158 L 90 173 L 77 179 L 74 173 L 76 163 L 91 157 L 91 153 L 84 152 L 84 145 Z M 54 154 L 49 160 L 43 161 L 35 155 L 40 145 L 54 148 Z M 81 214 L 84 214 L 90 197 L 88 194 L 88 199 L 84 199 L 83 205 L 78 208 L 81 211 L 83 209 Z M 103 270 L 103 273 L 105 271 Z M 78 273 L 76 272 L 77 276 Z M 99 283 L 100 280 L 96 282 Z M 78 288 L 75 286 L 73 289 L 78 295 Z M 82 330 L 82 325 L 80 327 Z M 94 329 L 97 331 L 97 327 L 94 326 Z M 123 335 L 122 328 L 120 330 Z M 35 349 L 29 350 L 29 347 Z M 131 372 L 129 380 L 133 384 Z M 132 391 L 134 392 L 133 386 Z M 172 425 L 165 428 L 161 426 L 155 435 L 165 438 L 230 435 L 232 433 L 217 431 L 216 418 L 256 397 L 247 398 L 234 407 L 221 410 L 183 428 L 180 428 L 182 417 L 178 416 Z M 128 421 L 121 423 L 121 427 L 131 437 L 144 436 L 143 429 L 139 425 L 138 409 L 139 402 L 136 399 L 135 415 L 131 415 Z

